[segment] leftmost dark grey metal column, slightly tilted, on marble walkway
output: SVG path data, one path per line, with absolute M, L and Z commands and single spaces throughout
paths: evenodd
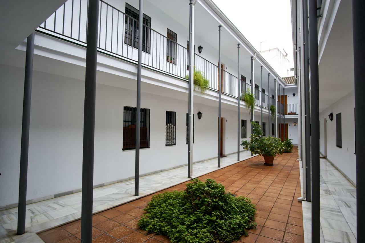
M 25 218 L 27 205 L 27 177 L 28 177 L 28 147 L 30 103 L 32 96 L 34 32 L 27 38 L 27 53 L 25 58 L 22 141 L 20 143 L 20 172 L 19 172 L 19 201 L 18 201 L 18 235 L 25 232 Z

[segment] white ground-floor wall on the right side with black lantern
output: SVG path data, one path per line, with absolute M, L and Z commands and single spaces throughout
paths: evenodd
M 355 96 L 353 90 L 319 114 L 319 149 L 324 154 L 323 129 L 324 118 L 327 118 L 327 158 L 345 173 L 351 181 L 356 182 L 354 107 Z M 333 113 L 333 121 L 330 121 L 328 118 L 328 114 L 331 112 Z M 336 114 L 340 112 L 342 121 L 342 148 L 336 146 Z

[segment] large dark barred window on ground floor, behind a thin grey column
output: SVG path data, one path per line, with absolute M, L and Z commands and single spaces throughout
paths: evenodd
M 135 149 L 137 108 L 125 106 L 123 111 L 123 150 Z M 140 148 L 150 147 L 150 109 L 141 108 Z

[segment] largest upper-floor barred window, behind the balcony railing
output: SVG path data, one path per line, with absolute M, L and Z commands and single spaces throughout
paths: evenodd
M 124 43 L 138 48 L 139 11 L 126 3 L 126 20 L 124 28 Z M 151 18 L 143 13 L 142 51 L 150 53 Z

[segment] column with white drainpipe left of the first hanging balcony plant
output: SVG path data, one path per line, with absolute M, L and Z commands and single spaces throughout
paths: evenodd
M 194 3 L 189 2 L 189 104 L 188 104 L 188 177 L 193 176 L 193 118 L 194 118 Z

